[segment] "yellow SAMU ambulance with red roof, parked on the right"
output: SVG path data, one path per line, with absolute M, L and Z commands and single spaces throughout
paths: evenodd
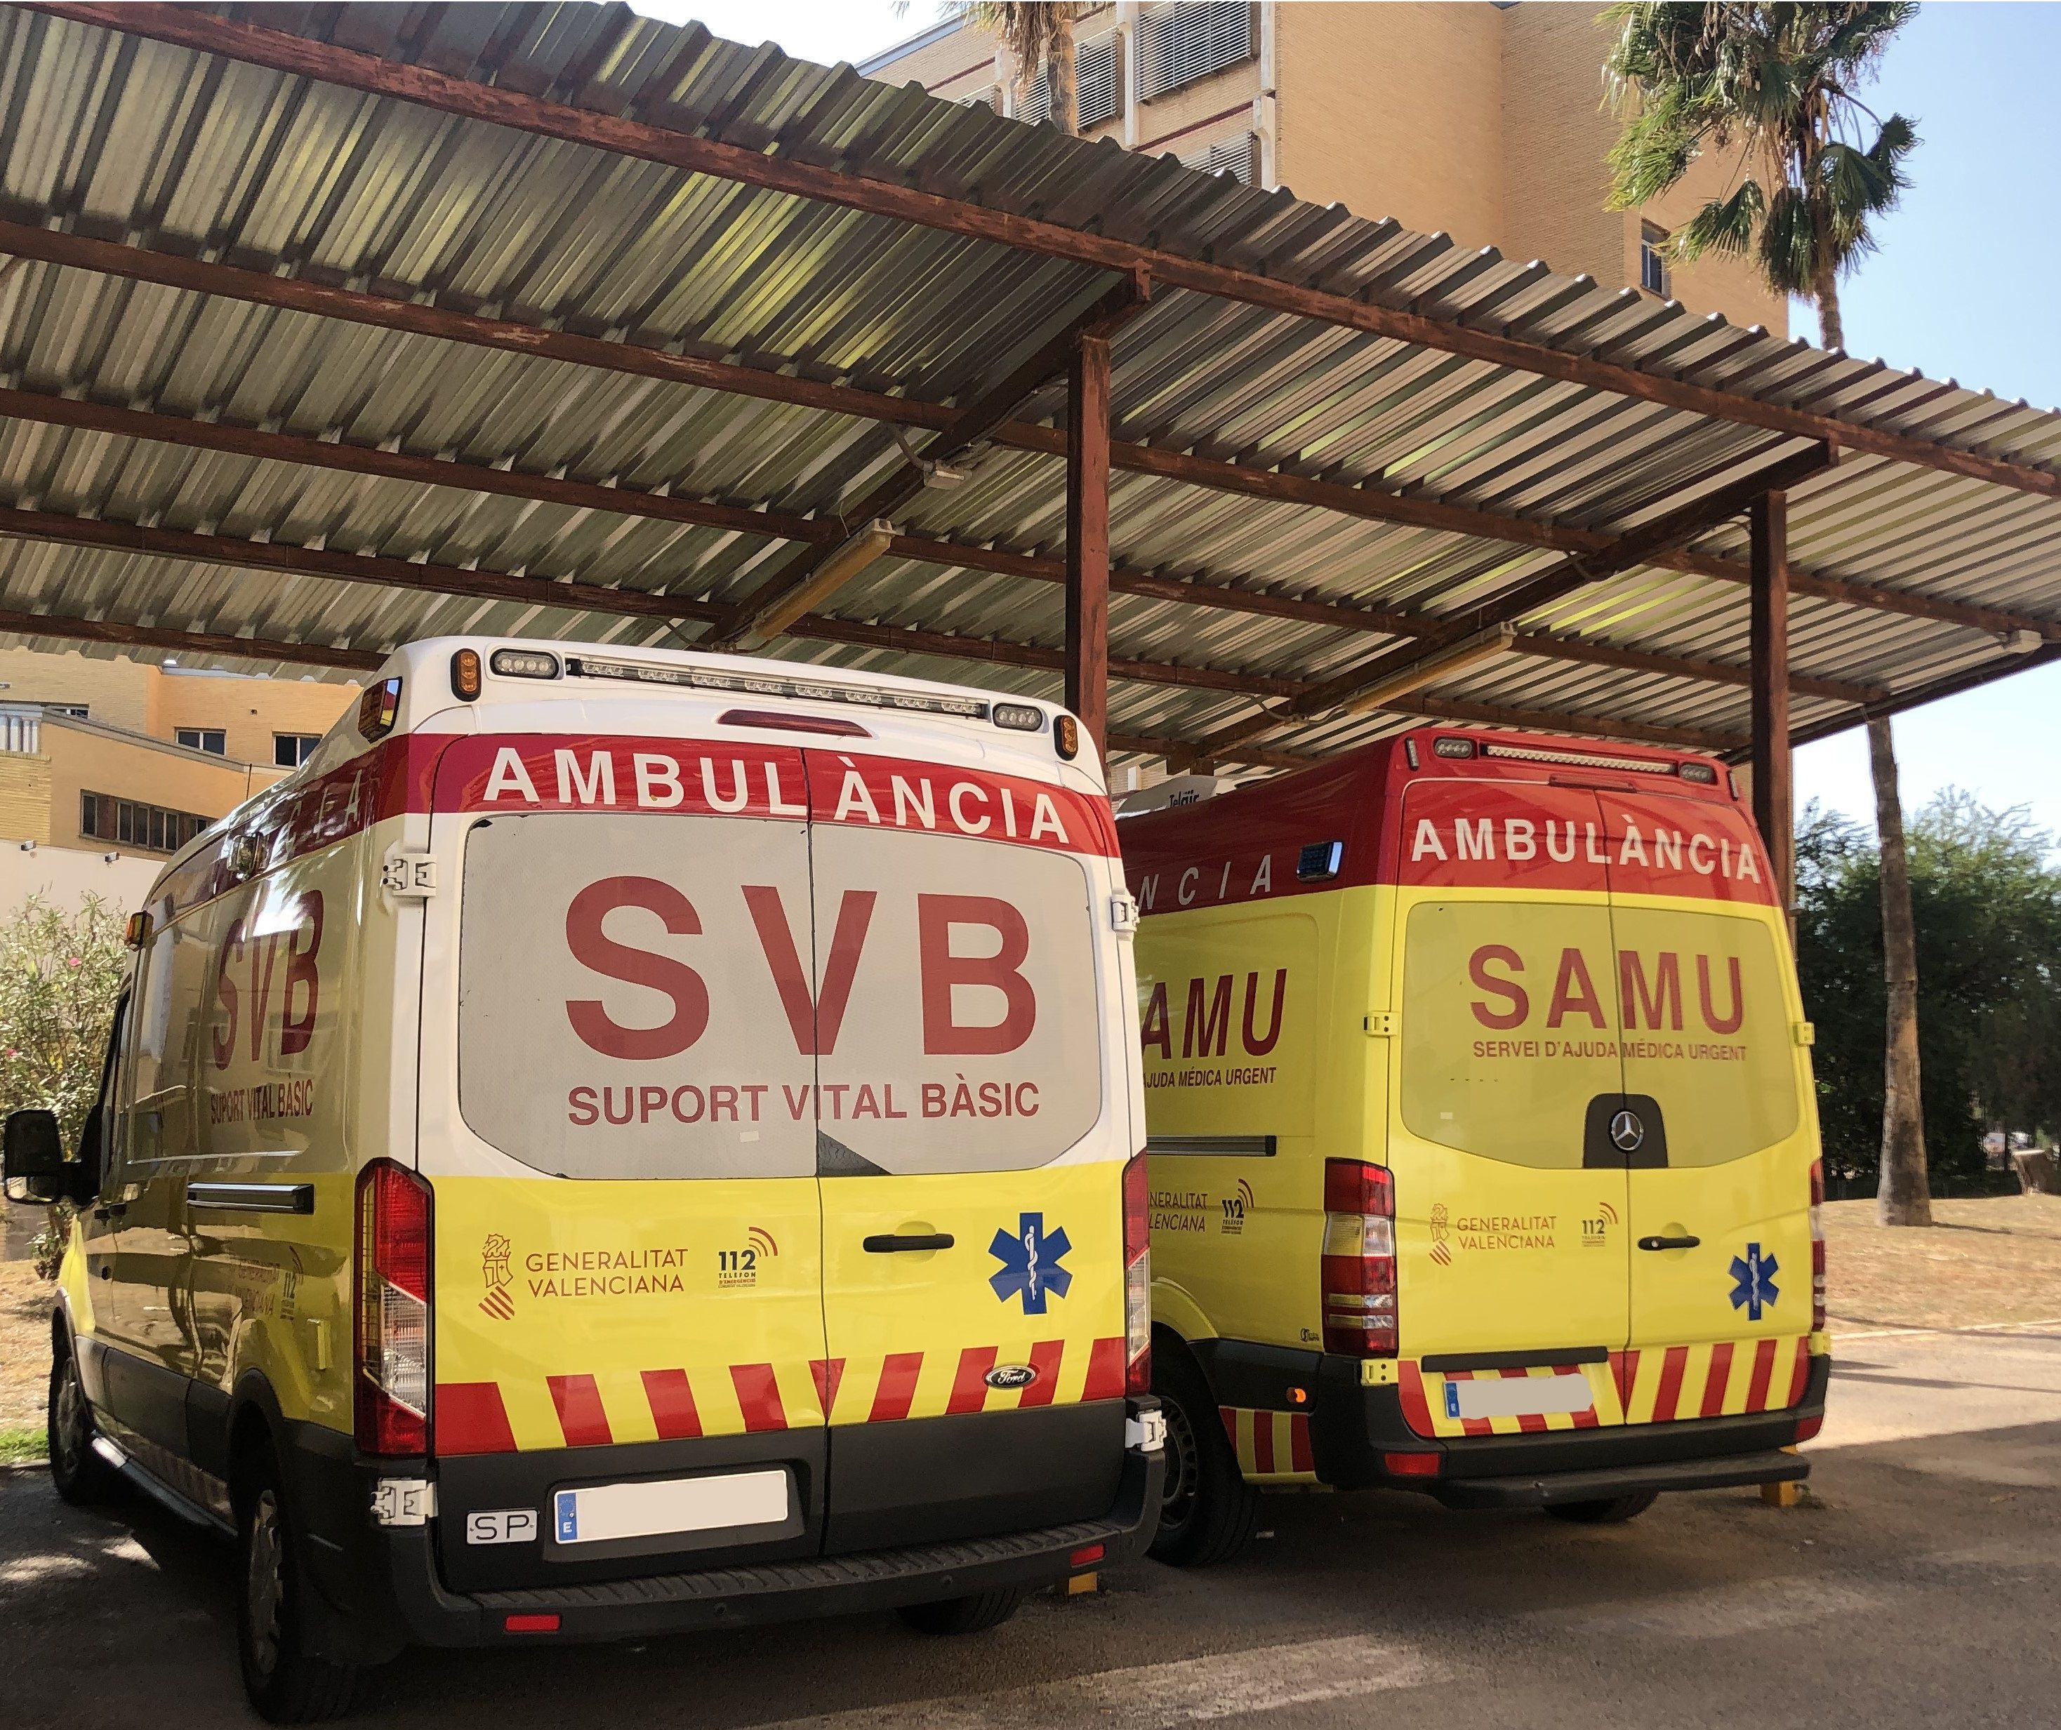
M 1624 1520 L 1805 1475 L 1810 1026 L 1721 764 L 1414 731 L 1119 834 L 1156 1555 L 1270 1487 Z

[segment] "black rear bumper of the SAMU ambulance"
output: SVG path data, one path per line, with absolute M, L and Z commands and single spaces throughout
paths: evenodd
M 1214 1341 L 1195 1355 L 1224 1405 L 1288 1409 L 1288 1386 L 1311 1388 L 1309 1433 L 1319 1481 L 1340 1489 L 1416 1489 L 1451 1508 L 1542 1508 L 1649 1489 L 1803 1479 L 1810 1462 L 1783 1450 L 1795 1444 L 1799 1425 L 1824 1417 L 1832 1370 L 1830 1357 L 1814 1357 L 1803 1398 L 1781 1411 L 1434 1440 L 1404 1421 L 1397 1388 L 1362 1386 L 1360 1365 L 1350 1357 L 1230 1341 Z M 1389 1454 L 1408 1454 L 1424 1470 L 1391 1470 Z M 1428 1468 L 1432 1462 L 1437 1470 Z

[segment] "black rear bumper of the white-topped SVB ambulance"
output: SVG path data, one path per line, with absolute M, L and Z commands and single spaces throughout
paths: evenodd
M 1138 1413 L 1156 1400 L 1134 1398 Z M 835 1557 L 631 1573 L 622 1580 L 458 1592 L 445 1584 L 435 1526 L 379 1526 L 371 1497 L 381 1468 L 338 1450 L 328 1431 L 293 1438 L 303 1557 L 328 1615 L 311 1629 L 332 1658 L 377 1662 L 404 1646 L 536 1646 L 641 1639 L 705 1627 L 791 1621 L 923 1604 L 1020 1586 L 1144 1555 L 1158 1526 L 1164 1456 L 1127 1448 L 1117 1495 L 1101 1518 L 948 1543 Z M 385 1468 L 392 1470 L 392 1468 Z M 1074 1561 L 1082 1551 L 1101 1555 Z M 509 1631 L 509 1617 L 556 1627 Z

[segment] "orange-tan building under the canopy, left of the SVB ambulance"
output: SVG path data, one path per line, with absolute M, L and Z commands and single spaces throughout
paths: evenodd
M 0 846 L 167 859 L 352 702 L 319 680 L 0 649 Z

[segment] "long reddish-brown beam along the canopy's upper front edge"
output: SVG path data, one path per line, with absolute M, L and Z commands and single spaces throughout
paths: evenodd
M 1680 377 L 1643 373 L 1634 367 L 1474 330 L 1426 313 L 1397 311 L 1255 272 L 1206 264 L 1156 247 L 1090 235 L 1057 222 L 969 204 L 911 185 L 894 185 L 884 179 L 868 179 L 789 157 L 748 150 L 740 144 L 674 132 L 616 113 L 552 103 L 521 91 L 443 74 L 427 66 L 379 60 L 377 56 L 286 31 L 221 19 L 192 6 L 56 4 L 54 0 L 31 0 L 27 10 L 47 12 L 49 16 L 124 35 L 150 37 L 196 54 L 214 54 L 289 76 L 392 97 L 455 117 L 583 144 L 686 173 L 703 173 L 791 198 L 913 222 L 1018 251 L 1043 253 L 1096 270 L 1129 272 L 1142 268 L 1152 274 L 1154 282 L 1164 286 L 1191 288 L 1265 311 L 1336 323 L 1393 342 L 1614 391 L 1715 420 L 1758 426 L 1787 437 L 1822 439 L 1892 461 L 1935 468 L 1995 486 L 2061 498 L 2061 474 L 2051 470 L 1946 447 L 1929 439 L 1888 432 L 1857 420 L 1735 395 Z

